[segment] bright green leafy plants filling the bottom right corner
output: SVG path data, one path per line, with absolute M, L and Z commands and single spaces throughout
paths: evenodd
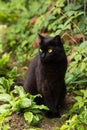
M 60 130 L 86 130 L 87 129 L 87 90 L 75 92 L 76 103 L 67 113 L 69 120 L 62 125 Z

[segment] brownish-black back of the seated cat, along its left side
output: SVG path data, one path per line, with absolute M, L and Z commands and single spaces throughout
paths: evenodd
M 25 82 L 24 89 L 26 92 L 30 92 L 31 94 L 36 94 L 36 68 L 38 66 L 39 55 L 37 55 L 29 64 Z

